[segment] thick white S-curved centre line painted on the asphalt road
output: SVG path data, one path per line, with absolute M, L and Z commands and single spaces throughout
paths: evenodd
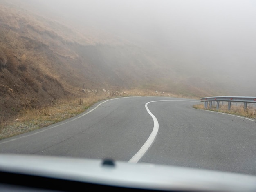
M 154 101 L 150 101 L 148 103 L 153 103 L 153 102 L 162 102 L 162 101 L 184 101 L 184 102 L 198 102 L 198 101 L 190 101 L 190 100 L 154 100 Z M 157 136 L 158 133 L 158 129 L 159 129 L 159 123 L 157 121 L 157 118 L 150 112 L 150 110 L 148 109 L 148 103 L 145 104 L 145 108 L 148 112 L 148 114 L 150 114 L 150 116 L 153 118 L 154 121 L 154 127 L 153 130 L 150 134 L 150 136 L 148 137 L 147 141 L 144 143 L 144 145 L 140 148 L 140 150 L 132 157 L 132 159 L 130 159 L 128 162 L 129 163 L 137 163 L 139 161 L 139 159 L 141 159 L 142 156 L 144 156 L 144 154 L 147 152 L 147 150 L 149 149 L 149 147 L 154 143 L 155 138 Z

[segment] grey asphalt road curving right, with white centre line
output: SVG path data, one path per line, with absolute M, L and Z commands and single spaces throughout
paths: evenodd
M 112 158 L 256 175 L 256 122 L 194 109 L 199 100 L 126 97 L 0 141 L 0 153 Z

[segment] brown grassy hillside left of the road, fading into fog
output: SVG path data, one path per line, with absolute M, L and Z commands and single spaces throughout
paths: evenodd
M 141 43 L 102 31 L 85 33 L 9 1 L 1 1 L 0 12 L 2 117 L 58 98 L 86 96 L 84 90 L 137 88 L 198 98 L 222 94 L 217 85 L 190 75 L 190 68 L 182 69 L 179 57 L 170 60 L 153 47 L 143 49 Z

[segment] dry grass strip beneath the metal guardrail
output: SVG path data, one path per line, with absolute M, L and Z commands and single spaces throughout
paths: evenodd
M 193 105 L 193 107 L 196 109 L 204 109 L 204 104 Z M 227 104 L 220 105 L 218 110 L 216 109 L 216 106 L 212 106 L 212 109 L 209 109 L 209 106 L 208 106 L 208 108 L 204 109 L 204 110 L 218 111 L 218 112 L 222 112 L 222 113 L 234 114 L 234 115 L 238 115 L 238 116 L 256 119 L 256 107 L 254 105 L 247 104 L 246 110 L 244 110 L 243 105 L 235 105 L 235 104 L 231 104 L 230 111 L 228 110 Z

